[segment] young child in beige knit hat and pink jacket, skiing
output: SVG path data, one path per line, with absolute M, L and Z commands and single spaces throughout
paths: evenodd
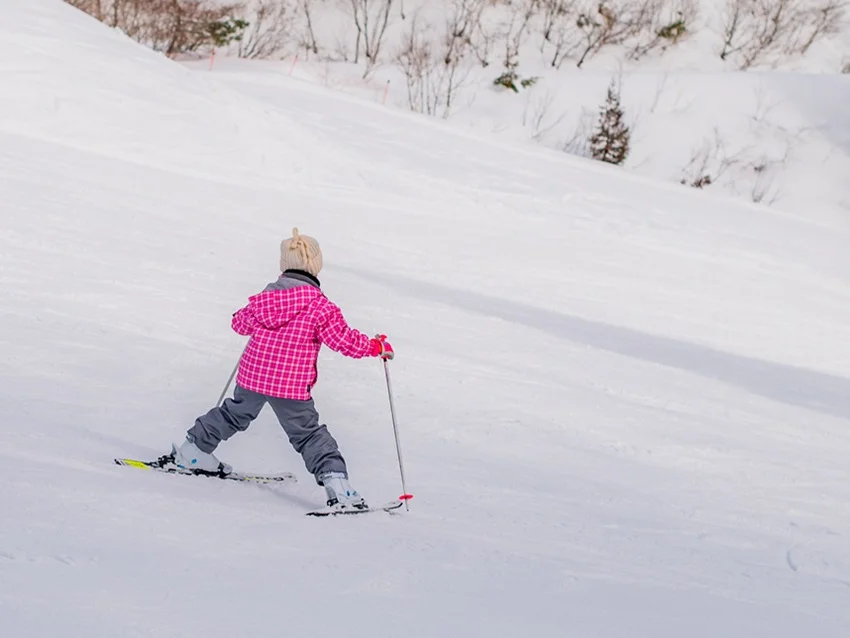
M 307 470 L 324 486 L 328 505 L 366 507 L 348 482 L 336 440 L 319 424 L 310 391 L 316 384 L 322 344 L 354 359 L 392 359 L 394 353 L 385 336 L 370 339 L 348 326 L 320 289 L 321 269 L 318 242 L 293 229 L 292 237 L 280 245 L 280 278 L 233 315 L 233 330 L 250 336 L 239 360 L 233 398 L 198 417 L 186 441 L 172 445 L 176 465 L 202 473 L 230 473 L 230 466 L 213 451 L 221 441 L 246 430 L 268 403 Z

